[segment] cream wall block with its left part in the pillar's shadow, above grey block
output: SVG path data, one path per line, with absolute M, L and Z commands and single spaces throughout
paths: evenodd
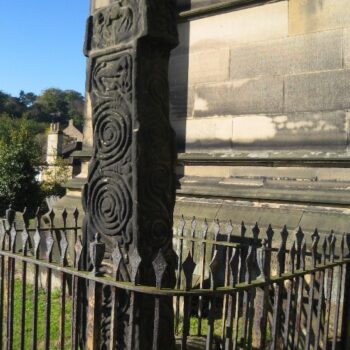
M 229 60 L 229 49 L 173 55 L 169 66 L 169 83 L 176 86 L 228 80 Z

